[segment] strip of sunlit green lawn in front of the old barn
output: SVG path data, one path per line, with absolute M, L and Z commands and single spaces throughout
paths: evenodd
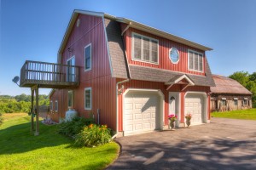
M 256 109 L 247 109 L 241 111 L 224 111 L 224 112 L 212 112 L 213 117 L 224 117 L 231 119 L 247 119 L 256 120 Z

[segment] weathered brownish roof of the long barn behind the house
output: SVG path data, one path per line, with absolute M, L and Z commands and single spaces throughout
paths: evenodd
M 252 94 L 239 82 L 229 77 L 212 75 L 216 87 L 212 87 L 212 94 Z

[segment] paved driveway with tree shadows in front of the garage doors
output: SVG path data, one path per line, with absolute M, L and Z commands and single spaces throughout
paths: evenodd
M 107 169 L 256 169 L 256 121 L 212 118 L 209 124 L 116 139 Z

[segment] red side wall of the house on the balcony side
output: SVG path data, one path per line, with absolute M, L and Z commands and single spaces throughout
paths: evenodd
M 97 121 L 97 109 L 100 109 L 100 123 L 115 129 L 115 79 L 111 77 L 108 61 L 108 49 L 101 17 L 79 14 L 80 26 L 73 26 L 67 45 L 63 51 L 61 63 L 75 56 L 75 65 L 80 66 L 79 88 L 73 89 L 73 108 L 79 116 L 89 117 L 92 112 Z M 84 71 L 84 47 L 91 43 L 91 71 Z M 72 49 L 71 52 L 67 48 Z M 92 110 L 84 110 L 84 88 L 92 90 Z M 56 90 L 51 99 L 58 99 L 60 111 L 54 120 L 64 117 L 67 111 L 67 90 Z

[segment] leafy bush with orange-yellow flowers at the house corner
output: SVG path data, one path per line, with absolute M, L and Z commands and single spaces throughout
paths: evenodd
M 81 133 L 75 136 L 75 145 L 78 146 L 97 146 L 107 144 L 111 141 L 110 129 L 107 125 L 90 124 L 84 127 Z

